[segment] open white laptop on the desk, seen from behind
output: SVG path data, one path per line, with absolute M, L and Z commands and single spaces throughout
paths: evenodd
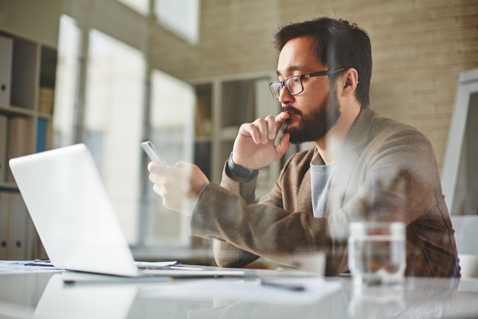
M 244 274 L 140 269 L 85 144 L 12 158 L 10 167 L 45 251 L 57 268 L 130 277 Z

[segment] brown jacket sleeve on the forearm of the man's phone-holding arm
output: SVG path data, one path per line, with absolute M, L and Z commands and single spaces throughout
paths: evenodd
M 347 270 L 347 243 L 328 236 L 325 218 L 290 213 L 272 205 L 248 204 L 214 184 L 206 186 L 198 198 L 190 233 L 217 237 L 244 251 L 296 267 L 300 267 L 297 259 L 302 253 L 325 251 L 333 256 L 327 259 L 327 275 Z

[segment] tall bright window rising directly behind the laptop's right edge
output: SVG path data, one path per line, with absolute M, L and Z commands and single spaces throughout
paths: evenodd
M 130 244 L 138 239 L 145 67 L 141 51 L 90 30 L 84 138 Z

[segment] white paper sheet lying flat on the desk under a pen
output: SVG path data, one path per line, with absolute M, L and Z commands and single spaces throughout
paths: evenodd
M 254 280 L 202 279 L 141 291 L 145 298 L 170 298 L 188 300 L 245 300 L 268 303 L 308 304 L 338 291 L 340 282 L 329 282 L 323 278 L 300 278 L 272 280 L 274 283 L 290 283 L 304 286 L 304 291 L 262 286 Z

